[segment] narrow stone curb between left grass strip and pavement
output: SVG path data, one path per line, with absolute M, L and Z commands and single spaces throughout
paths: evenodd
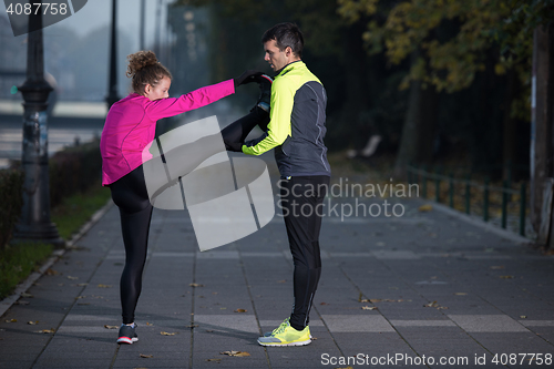
M 16 304 L 16 301 L 21 297 L 21 294 L 27 291 L 35 281 L 39 279 L 44 271 L 48 270 L 60 257 L 65 254 L 65 252 L 71 250 L 74 245 L 81 239 L 94 224 L 96 224 L 100 218 L 112 207 L 113 202 L 110 199 L 107 204 L 105 204 L 102 208 L 100 208 L 96 213 L 94 213 L 89 222 L 86 222 L 79 232 L 71 237 L 71 239 L 65 244 L 65 248 L 55 249 L 52 253 L 52 256 L 40 267 L 39 271 L 33 271 L 27 277 L 25 280 L 20 283 L 12 295 L 8 296 L 3 300 L 0 301 L 0 317 L 2 317 L 9 308 Z

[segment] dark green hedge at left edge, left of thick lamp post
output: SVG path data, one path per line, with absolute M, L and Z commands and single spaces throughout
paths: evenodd
M 11 237 L 13 225 L 23 206 L 23 173 L 19 170 L 0 171 L 0 249 Z

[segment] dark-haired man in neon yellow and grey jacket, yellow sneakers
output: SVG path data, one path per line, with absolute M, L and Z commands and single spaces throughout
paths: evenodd
M 295 264 L 295 301 L 290 317 L 258 338 L 263 346 L 301 346 L 311 341 L 309 311 L 321 275 L 321 206 L 330 178 L 326 133 L 327 94 L 301 61 L 304 37 L 298 27 L 280 23 L 261 38 L 265 60 L 277 72 L 271 85 L 269 123 L 242 151 L 260 155 L 275 148 L 281 181 L 280 205 Z

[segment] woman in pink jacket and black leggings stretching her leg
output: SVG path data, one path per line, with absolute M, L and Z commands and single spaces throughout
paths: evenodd
M 142 163 L 144 148 L 154 140 L 156 121 L 211 104 L 259 75 L 246 71 L 237 79 L 172 99 L 168 98 L 172 75 L 152 51 L 140 51 L 127 59 L 127 76 L 133 79 L 134 92 L 112 105 L 100 141 L 102 185 L 110 187 L 120 208 L 125 245 L 125 267 L 120 281 L 123 310 L 120 344 L 138 340 L 134 311 L 141 294 L 152 216 Z

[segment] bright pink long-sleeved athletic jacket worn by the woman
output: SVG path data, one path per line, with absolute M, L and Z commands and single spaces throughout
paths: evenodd
M 235 93 L 233 80 L 208 85 L 179 98 L 150 101 L 137 93 L 112 105 L 102 131 L 102 185 L 114 183 L 143 163 L 142 152 L 150 147 L 156 121 L 211 104 Z M 152 158 L 146 157 L 146 160 Z

